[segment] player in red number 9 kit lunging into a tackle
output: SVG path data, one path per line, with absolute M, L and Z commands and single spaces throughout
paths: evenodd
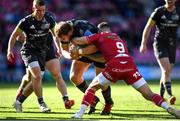
M 111 33 L 108 23 L 99 24 L 100 33 L 88 37 L 74 38 L 75 45 L 94 44 L 102 53 L 106 61 L 106 67 L 102 73 L 97 75 L 86 90 L 81 107 L 73 118 L 81 118 L 86 108 L 92 103 L 95 92 L 98 89 L 105 90 L 111 83 L 124 80 L 138 90 L 145 99 L 154 102 L 167 110 L 168 113 L 180 118 L 180 110 L 170 107 L 163 98 L 152 92 L 147 82 L 139 73 L 133 59 L 128 53 L 127 46 L 121 38 Z M 78 50 L 81 55 L 81 50 Z

